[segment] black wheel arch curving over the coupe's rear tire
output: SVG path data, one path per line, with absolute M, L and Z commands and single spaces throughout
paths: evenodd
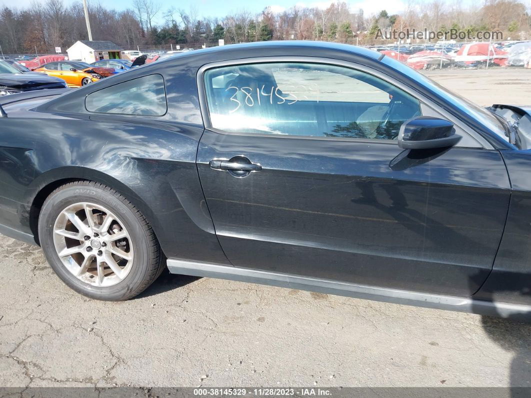
M 153 224 L 156 221 L 156 217 L 151 212 L 147 203 L 124 182 L 119 181 L 109 174 L 98 170 L 93 170 L 91 168 L 81 166 L 65 166 L 54 168 L 53 170 L 42 173 L 35 180 L 33 180 L 31 184 L 30 192 L 32 193 L 29 194 L 28 198 L 29 227 L 33 233 L 33 236 L 35 236 L 35 241 L 37 244 L 39 244 L 38 224 L 42 205 L 53 191 L 61 187 L 61 185 L 73 181 L 98 182 L 116 190 L 142 212 L 157 235 L 158 227 Z

